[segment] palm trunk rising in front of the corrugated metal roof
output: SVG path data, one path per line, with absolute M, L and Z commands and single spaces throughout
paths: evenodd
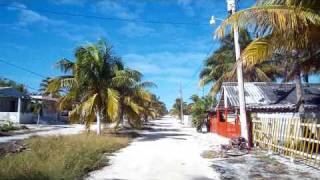
M 297 105 L 298 105 L 298 112 L 304 113 L 304 98 L 303 98 L 303 87 L 301 82 L 301 69 L 298 63 L 294 65 L 294 81 L 296 84 L 296 96 L 297 96 Z

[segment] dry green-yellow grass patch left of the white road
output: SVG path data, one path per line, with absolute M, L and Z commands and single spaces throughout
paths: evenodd
M 107 165 L 105 153 L 127 146 L 130 138 L 79 134 L 33 137 L 29 150 L 0 158 L 0 179 L 81 179 Z

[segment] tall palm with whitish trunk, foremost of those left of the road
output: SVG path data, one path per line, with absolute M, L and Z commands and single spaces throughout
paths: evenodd
M 112 87 L 120 66 L 118 57 L 104 41 L 81 46 L 75 51 L 75 60 L 62 59 L 57 63 L 65 76 L 52 79 L 48 92 L 65 89 L 60 108 L 72 106 L 72 121 L 83 120 L 89 129 L 97 120 L 97 134 L 101 134 L 101 121 L 116 120 L 119 110 L 119 92 Z

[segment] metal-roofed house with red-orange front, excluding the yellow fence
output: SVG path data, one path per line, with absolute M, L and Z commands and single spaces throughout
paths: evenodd
M 246 110 L 252 117 L 296 117 L 297 98 L 295 84 L 247 82 L 244 84 Z M 306 116 L 320 117 L 320 86 L 303 86 Z M 217 106 L 210 112 L 210 131 L 225 137 L 240 136 L 238 86 L 223 83 Z

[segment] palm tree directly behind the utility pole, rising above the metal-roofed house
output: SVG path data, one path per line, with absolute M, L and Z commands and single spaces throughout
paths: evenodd
M 240 31 L 240 46 L 245 48 L 252 41 L 247 31 Z M 214 97 L 224 81 L 235 81 L 235 52 L 233 35 L 229 34 L 221 40 L 221 46 L 205 61 L 200 73 L 200 86 L 214 83 L 210 93 Z M 255 66 L 244 66 L 246 81 L 274 81 L 281 74 L 275 65 L 277 61 L 266 61 Z

